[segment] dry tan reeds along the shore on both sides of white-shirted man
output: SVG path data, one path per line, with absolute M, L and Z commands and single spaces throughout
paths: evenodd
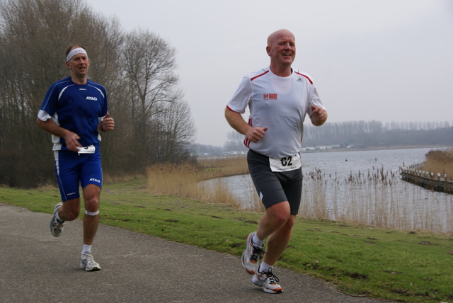
M 154 193 L 263 211 L 248 176 L 245 156 L 200 159 L 193 165 L 157 164 L 147 172 L 149 188 Z M 237 175 L 243 175 L 239 185 L 231 186 L 222 178 Z M 239 187 L 242 189 L 238 195 Z M 401 181 L 398 171 L 387 171 L 384 167 L 373 166 L 365 173 L 351 172 L 341 178 L 327 175 L 319 168 L 304 172 L 299 215 L 383 229 L 453 235 L 453 195 Z

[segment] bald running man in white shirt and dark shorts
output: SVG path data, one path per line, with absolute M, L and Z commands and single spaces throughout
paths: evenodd
M 294 35 L 277 30 L 268 38 L 270 67 L 245 76 L 226 105 L 225 118 L 234 130 L 245 135 L 249 148 L 248 168 L 265 206 L 258 230 L 248 234 L 242 255 L 243 268 L 252 282 L 265 292 L 279 293 L 282 287 L 273 265 L 289 243 L 302 195 L 302 164 L 299 156 L 304 119 L 323 125 L 326 108 L 319 99 L 311 76 L 292 69 L 296 56 Z M 241 114 L 250 110 L 248 122 Z M 268 239 L 263 262 L 265 239 Z

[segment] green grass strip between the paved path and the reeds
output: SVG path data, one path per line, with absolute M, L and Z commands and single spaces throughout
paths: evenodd
M 57 188 L 0 188 L 0 202 L 52 213 Z M 147 190 L 147 180 L 108 183 L 101 223 L 240 256 L 258 213 Z M 402 302 L 453 302 L 453 241 L 439 234 L 297 218 L 277 266 L 321 278 L 353 295 Z

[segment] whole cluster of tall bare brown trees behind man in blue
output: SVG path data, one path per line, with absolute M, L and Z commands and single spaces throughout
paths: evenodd
M 103 134 L 104 172 L 128 176 L 193 160 L 195 126 L 176 74 L 176 50 L 149 30 L 121 30 L 81 0 L 0 2 L 0 184 L 54 183 L 50 134 L 36 116 L 50 84 L 69 76 L 68 45 L 84 45 L 88 78 L 108 93 L 115 131 Z

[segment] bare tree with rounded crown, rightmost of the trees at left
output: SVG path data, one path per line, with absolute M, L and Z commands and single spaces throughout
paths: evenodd
M 169 127 L 182 125 L 184 119 L 186 124 L 190 124 L 191 118 L 183 115 L 179 120 L 174 119 L 175 113 L 185 107 L 178 108 L 184 103 L 177 88 L 173 47 L 154 33 L 138 30 L 126 35 L 123 57 L 123 70 L 129 84 L 127 103 L 133 125 L 134 152 L 139 164 L 137 167 L 144 169 L 151 163 L 171 159 L 169 153 L 176 151 L 169 143 L 175 144 L 176 138 L 181 137 L 179 132 L 185 130 L 169 130 Z

